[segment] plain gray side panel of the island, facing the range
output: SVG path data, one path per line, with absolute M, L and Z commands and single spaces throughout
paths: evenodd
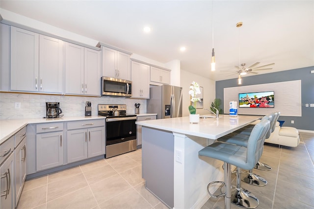
M 174 136 L 143 127 L 142 175 L 146 188 L 169 208 L 174 207 Z M 149 136 L 149 137 L 147 137 Z

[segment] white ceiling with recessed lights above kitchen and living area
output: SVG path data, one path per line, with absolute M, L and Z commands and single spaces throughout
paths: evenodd
M 93 39 L 94 46 L 100 41 L 162 63 L 179 59 L 182 70 L 213 80 L 237 78 L 220 71 L 240 63 L 275 63 L 259 74 L 314 66 L 314 0 L 0 0 L 0 8 Z

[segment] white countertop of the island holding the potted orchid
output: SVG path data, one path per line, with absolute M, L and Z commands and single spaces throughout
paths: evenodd
M 209 139 L 217 139 L 221 136 L 245 127 L 260 118 L 262 118 L 262 116 L 238 115 L 236 117 L 231 117 L 229 115 L 220 115 L 218 119 L 200 118 L 199 123 L 191 124 L 189 123 L 189 117 L 187 116 L 150 121 L 138 121 L 136 124 L 164 131 L 200 136 Z

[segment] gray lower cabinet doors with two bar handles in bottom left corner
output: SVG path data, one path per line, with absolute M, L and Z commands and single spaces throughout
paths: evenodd
M 11 154 L 0 167 L 0 209 L 14 209 L 13 158 Z

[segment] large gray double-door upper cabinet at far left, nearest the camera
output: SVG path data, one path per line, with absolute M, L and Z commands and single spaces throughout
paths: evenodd
M 62 93 L 63 41 L 11 26 L 13 91 Z

